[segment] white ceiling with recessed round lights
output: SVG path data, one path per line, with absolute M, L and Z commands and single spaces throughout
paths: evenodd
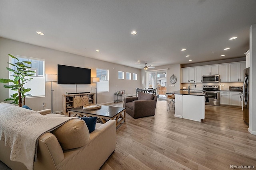
M 243 57 L 255 23 L 256 0 L 0 1 L 1 37 L 135 68 Z

